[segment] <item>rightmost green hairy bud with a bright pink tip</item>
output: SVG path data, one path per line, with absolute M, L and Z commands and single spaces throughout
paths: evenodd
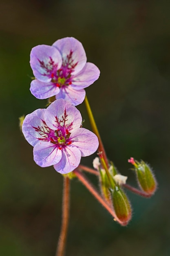
M 157 189 L 157 181 L 150 166 L 146 164 L 144 161 L 137 162 L 134 160 L 133 162 L 132 157 L 130 161 L 135 166 L 137 182 L 139 184 L 140 189 L 148 195 L 154 194 Z

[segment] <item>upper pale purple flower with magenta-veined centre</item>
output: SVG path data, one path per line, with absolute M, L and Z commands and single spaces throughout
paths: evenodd
M 38 99 L 56 96 L 74 106 L 84 101 L 85 90 L 99 78 L 100 71 L 86 62 L 86 53 L 77 39 L 66 37 L 50 45 L 33 47 L 30 65 L 35 76 L 31 93 Z

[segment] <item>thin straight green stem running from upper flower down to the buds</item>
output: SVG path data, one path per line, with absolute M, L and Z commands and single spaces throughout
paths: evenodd
M 109 164 L 108 164 L 108 159 L 107 159 L 107 156 L 106 156 L 106 151 L 104 149 L 104 146 L 103 146 L 103 143 L 102 143 L 102 139 L 99 135 L 99 131 L 97 129 L 97 125 L 95 123 L 95 119 L 93 117 L 93 113 L 91 111 L 91 107 L 90 107 L 90 104 L 88 102 L 88 99 L 87 99 L 87 96 L 85 97 L 85 105 L 86 105 L 86 109 L 87 109 L 87 112 L 88 112 L 88 117 L 90 119 L 90 123 L 91 123 L 91 127 L 92 127 L 92 130 L 93 132 L 95 133 L 95 135 L 97 135 L 98 137 L 98 140 L 99 140 L 99 148 L 98 148 L 98 152 L 102 152 L 102 155 L 103 155 L 103 158 L 104 158 L 104 161 L 106 163 L 106 166 L 109 167 Z

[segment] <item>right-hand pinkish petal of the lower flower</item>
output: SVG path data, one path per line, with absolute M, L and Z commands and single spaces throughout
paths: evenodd
M 99 146 L 97 136 L 85 128 L 78 128 L 71 132 L 70 140 L 72 146 L 79 148 L 82 157 L 92 155 Z

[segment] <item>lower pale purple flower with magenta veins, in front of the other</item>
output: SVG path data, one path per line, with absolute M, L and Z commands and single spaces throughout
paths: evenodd
M 81 157 L 93 154 L 97 136 L 80 128 L 82 116 L 70 101 L 57 99 L 46 109 L 26 115 L 22 132 L 33 148 L 34 161 L 41 167 L 54 165 L 59 173 L 69 173 Z

